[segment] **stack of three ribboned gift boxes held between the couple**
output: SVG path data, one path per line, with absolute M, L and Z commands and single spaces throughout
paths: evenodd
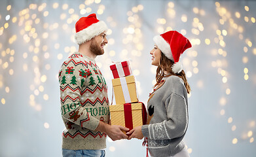
M 111 125 L 124 126 L 132 130 L 147 121 L 145 105 L 139 102 L 136 79 L 132 75 L 129 61 L 110 65 L 116 105 L 110 105 Z

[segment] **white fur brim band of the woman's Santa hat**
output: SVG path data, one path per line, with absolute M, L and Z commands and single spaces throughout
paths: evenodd
M 170 44 L 168 44 L 164 38 L 162 38 L 160 35 L 156 35 L 153 38 L 153 41 L 155 41 L 156 46 L 164 53 L 164 55 L 169 58 L 170 60 L 174 61 L 174 57 L 172 56 L 172 50 L 170 47 Z

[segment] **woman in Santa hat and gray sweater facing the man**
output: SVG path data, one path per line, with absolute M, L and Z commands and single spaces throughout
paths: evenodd
M 191 43 L 177 31 L 168 31 L 153 40 L 151 64 L 158 67 L 155 89 L 147 102 L 147 124 L 127 134 L 131 134 L 129 139 L 145 137 L 151 156 L 187 157 L 183 137 L 189 120 L 187 94 L 191 88 L 179 57 Z

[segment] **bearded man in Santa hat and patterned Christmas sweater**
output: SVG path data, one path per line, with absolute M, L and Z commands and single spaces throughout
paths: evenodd
M 109 125 L 107 84 L 96 65 L 107 44 L 105 22 L 96 14 L 82 17 L 75 24 L 78 52 L 64 61 L 59 72 L 62 119 L 62 154 L 67 156 L 105 156 L 107 135 L 113 140 L 127 139 L 122 126 Z M 76 154 L 76 155 L 75 155 Z

